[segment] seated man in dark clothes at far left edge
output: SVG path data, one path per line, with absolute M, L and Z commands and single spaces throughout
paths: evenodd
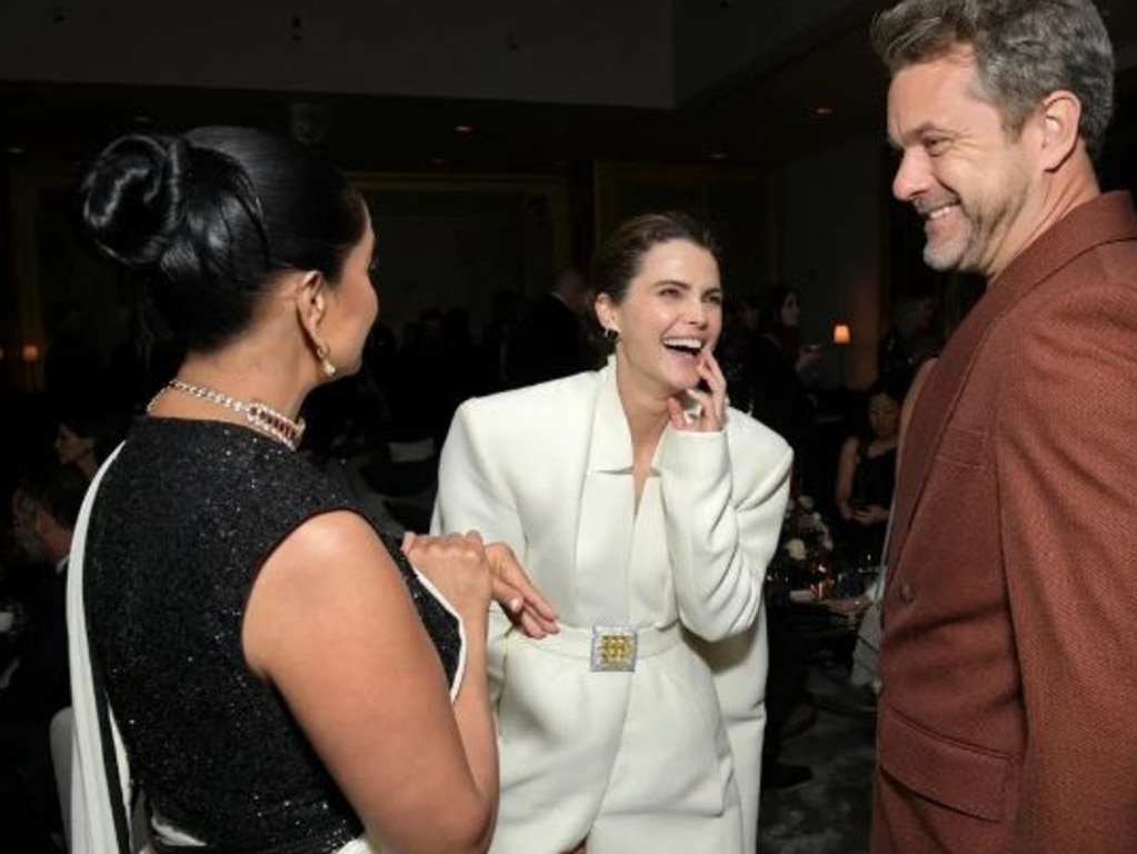
M 3 851 L 55 851 L 51 835 L 63 828 L 48 732 L 56 712 L 70 704 L 66 572 L 86 483 L 74 466 L 53 465 L 24 478 L 11 499 L 13 537 L 36 581 L 19 662 L 0 689 Z

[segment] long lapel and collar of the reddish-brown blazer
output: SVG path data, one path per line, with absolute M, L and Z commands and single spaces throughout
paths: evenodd
M 1131 197 L 1122 192 L 1106 193 L 1068 214 L 991 281 L 987 293 L 952 335 L 916 403 L 904 439 L 888 566 L 899 565 L 912 517 L 944 431 L 974 367 L 976 356 L 998 318 L 1084 252 L 1134 238 L 1137 238 L 1137 216 Z M 896 575 L 889 573 L 886 584 L 890 586 Z

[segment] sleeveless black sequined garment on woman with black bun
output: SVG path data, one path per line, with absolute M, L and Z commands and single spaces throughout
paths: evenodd
M 275 546 L 354 500 L 243 426 L 147 418 L 108 469 L 86 539 L 88 633 L 131 771 L 194 852 L 333 852 L 362 824 L 241 646 Z M 360 515 L 362 512 L 360 512 Z M 451 683 L 457 620 L 384 539 Z

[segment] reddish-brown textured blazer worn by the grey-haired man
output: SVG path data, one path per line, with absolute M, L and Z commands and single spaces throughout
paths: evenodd
M 872 851 L 1137 852 L 1137 215 L 1071 212 L 916 404 Z

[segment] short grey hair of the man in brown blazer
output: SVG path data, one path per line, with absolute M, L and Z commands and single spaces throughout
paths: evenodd
M 1093 0 L 902 0 L 872 22 L 872 44 L 891 74 L 974 51 L 977 96 L 1018 135 L 1052 92 L 1081 102 L 1081 135 L 1096 156 L 1113 114 L 1113 48 Z

